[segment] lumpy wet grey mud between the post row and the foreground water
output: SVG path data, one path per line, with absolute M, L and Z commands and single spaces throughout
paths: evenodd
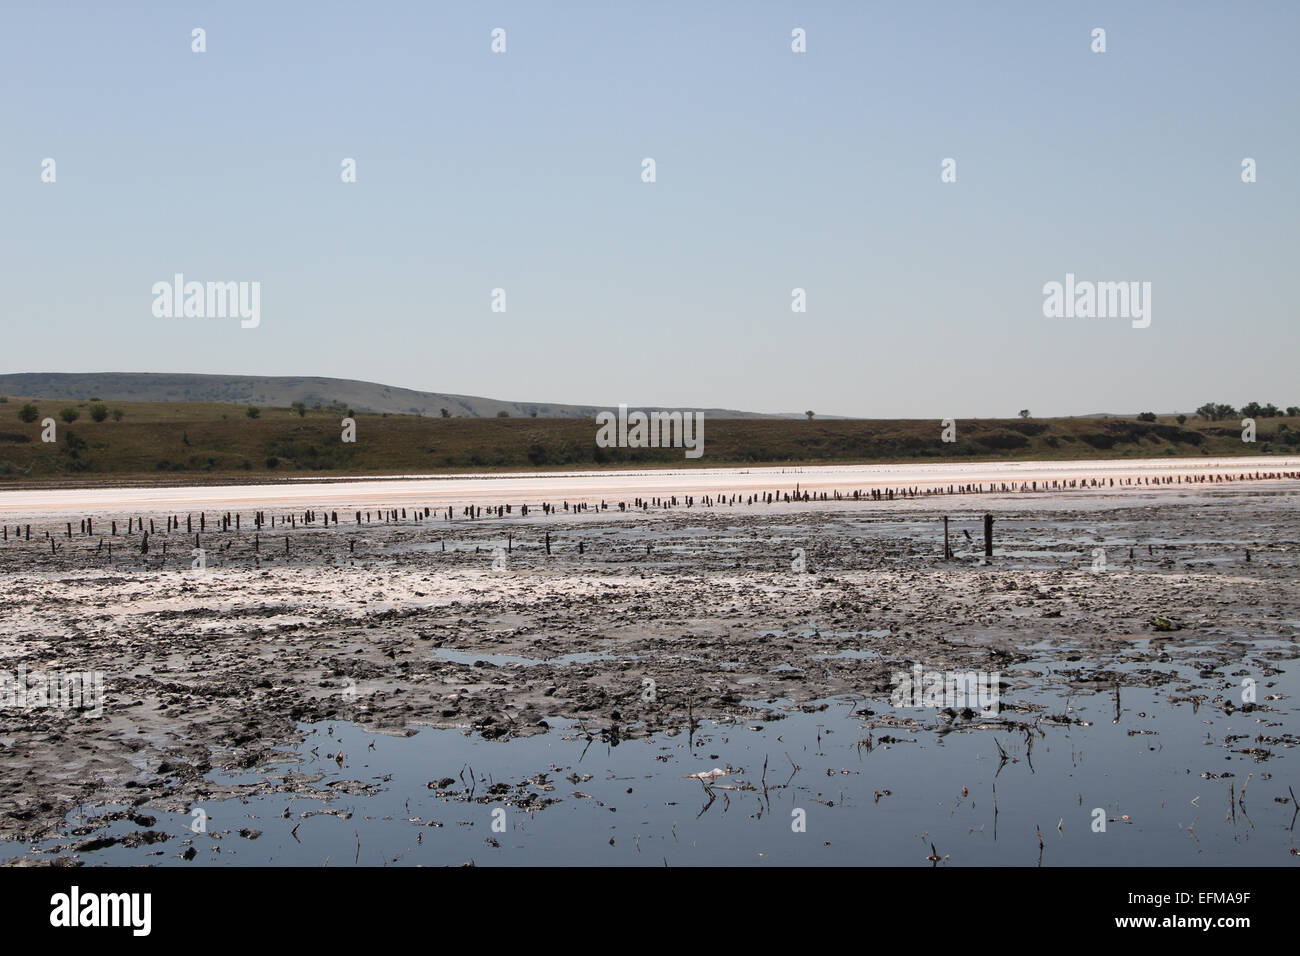
M 138 533 L 118 535 L 109 561 L 98 533 L 68 540 L 61 522 L 34 523 L 32 538 L 18 541 L 10 516 L 10 540 L 0 545 L 0 669 L 103 671 L 105 698 L 98 718 L 51 706 L 0 710 L 0 843 L 12 862 L 96 862 L 114 848 L 187 860 L 192 834 L 178 822 L 196 805 L 268 800 L 278 817 L 281 805 L 321 800 L 322 790 L 363 804 L 391 791 L 382 767 L 354 773 L 356 748 L 376 734 L 408 745 L 429 728 L 462 731 L 500 748 L 495 760 L 507 763 L 519 748 L 495 792 L 460 779 L 464 765 L 455 761 L 400 786 L 445 803 L 481 804 L 486 792 L 488 804 L 542 818 L 556 800 L 590 796 L 571 796 L 581 783 L 546 790 L 555 771 L 536 750 L 542 735 L 607 752 L 649 744 L 638 767 L 653 775 L 655 747 L 693 743 L 702 727 L 755 727 L 736 756 L 744 771 L 728 773 L 763 792 L 777 762 L 783 779 L 807 766 L 806 757 L 783 756 L 784 721 L 806 727 L 809 715 L 835 713 L 854 753 L 863 743 L 970 736 L 1001 765 L 1008 754 L 1031 758 L 1035 740 L 1041 754 L 1082 727 L 1138 721 L 1132 700 L 1192 714 L 1179 718 L 1183 744 L 1214 753 L 1204 766 L 1179 757 L 1186 766 L 1171 773 L 1206 780 L 1225 757 L 1244 761 L 1232 795 L 1251 774 L 1256 806 L 1273 804 L 1291 818 L 1288 790 L 1300 780 L 1288 752 L 1297 736 L 1283 688 L 1300 653 L 1296 496 L 1295 483 L 1270 483 L 766 510 L 534 511 L 299 527 L 287 555 L 278 531 L 264 531 L 255 550 L 246 524 L 204 535 L 204 568 L 191 568 L 192 538 L 183 533 L 152 535 L 148 554 Z M 997 519 L 989 563 L 985 510 Z M 1093 571 L 1098 550 L 1105 566 Z M 1000 674 L 1000 713 L 892 706 L 894 675 L 915 663 Z M 1257 682 L 1253 702 L 1243 700 L 1245 679 Z M 337 754 L 324 753 L 322 728 L 335 722 L 354 730 L 346 740 L 339 734 Z M 1138 731 L 1130 741 L 1160 734 L 1158 724 L 1124 726 Z M 760 750 L 774 767 L 763 787 Z M 630 760 L 629 749 L 620 753 Z M 927 753 L 948 760 L 942 749 Z M 694 757 L 693 747 L 686 754 Z M 699 760 L 659 762 L 673 786 L 727 793 L 682 780 L 716 765 L 707 748 Z M 576 762 L 560 766 L 581 782 Z M 864 806 L 880 803 L 870 799 L 878 786 Z M 980 796 L 987 809 L 991 793 Z M 1232 799 L 1213 816 L 1231 810 Z M 1062 816 L 1039 822 L 1048 831 Z M 346 825 L 348 840 L 355 825 Z M 234 827 L 226 839 L 252 847 L 252 829 Z M 1284 855 L 1290 845 L 1294 860 L 1283 830 L 1277 848 Z M 364 838 L 358 832 L 359 844 Z M 295 857 L 285 849 L 272 858 Z M 377 862 L 360 849 L 356 858 Z M 246 852 L 243 861 L 266 860 Z

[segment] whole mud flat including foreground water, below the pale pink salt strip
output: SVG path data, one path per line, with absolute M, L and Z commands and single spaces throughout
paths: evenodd
M 0 670 L 99 671 L 104 698 L 0 710 L 12 864 L 1297 861 L 1300 483 L 412 509 L 256 542 L 246 511 L 209 515 L 202 568 L 183 531 L 109 558 L 121 499 L 21 494 Z M 996 713 L 896 706 L 916 665 L 996 674 Z

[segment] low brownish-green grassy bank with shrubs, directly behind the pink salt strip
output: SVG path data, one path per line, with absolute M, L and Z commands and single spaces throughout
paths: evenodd
M 20 410 L 31 402 L 35 421 Z M 909 462 L 918 459 L 1083 459 L 1161 455 L 1300 454 L 1300 418 L 1258 420 L 1257 441 L 1235 421 L 1134 419 L 958 420 L 958 441 L 935 420 L 714 419 L 705 455 L 681 449 L 601 449 L 593 419 L 429 419 L 358 414 L 356 442 L 341 441 L 343 412 L 216 402 L 92 402 L 8 397 L 0 403 L 0 483 L 268 480 L 294 475 L 394 475 L 481 470 Z M 77 419 L 65 423 L 61 410 Z M 40 419 L 57 441 L 40 440 Z

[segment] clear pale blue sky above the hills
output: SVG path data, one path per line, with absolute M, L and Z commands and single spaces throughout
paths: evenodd
M 0 371 L 1300 405 L 1297 43 L 1294 1 L 4 0 Z M 260 328 L 155 319 L 176 272 L 260 281 Z M 1044 317 L 1066 272 L 1152 282 L 1150 326 Z

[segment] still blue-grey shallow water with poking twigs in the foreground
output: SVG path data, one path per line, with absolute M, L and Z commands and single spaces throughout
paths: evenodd
M 1205 649 L 1170 641 L 1165 650 L 1170 659 L 1157 665 L 1108 667 L 1154 666 L 1186 678 L 1190 688 Z M 623 740 L 588 736 L 567 721 L 506 741 L 452 730 L 391 736 L 347 723 L 302 724 L 303 740 L 282 763 L 211 777 L 252 787 L 286 774 L 320 775 L 318 800 L 252 793 L 200 804 L 203 834 L 191 832 L 190 814 L 146 809 L 156 817 L 152 829 L 169 839 L 78 856 L 87 864 L 186 866 L 1295 865 L 1288 786 L 1300 784 L 1300 774 L 1294 750 L 1268 739 L 1296 727 L 1296 656 L 1294 640 L 1253 643 L 1242 670 L 1258 680 L 1262 709 L 1231 715 L 1212 700 L 1180 696 L 1174 682 L 1124 687 L 1117 718 L 1112 691 L 1063 687 L 1061 670 L 1078 665 L 1027 665 L 1036 674 L 1011 680 L 1004 704 L 1041 706 L 1037 722 L 1015 714 L 1028 731 L 949 732 L 933 710 L 902 711 L 927 727 L 884 727 L 880 718 L 898 711 L 863 697 L 801 708 L 767 701 L 766 719 Z M 1286 672 L 1266 676 L 1265 665 Z M 1226 676 L 1222 692 L 1238 700 L 1239 680 Z M 1048 715 L 1084 723 L 1052 724 Z M 1271 756 L 1239 752 L 1254 748 Z M 339 752 L 342 765 L 333 757 Z M 684 779 L 715 767 L 729 773 L 708 786 Z M 445 792 L 430 790 L 441 778 L 454 782 Z M 490 792 L 502 783 L 503 793 Z M 471 787 L 473 799 L 465 800 Z M 519 806 L 528 793 L 529 801 L 555 803 Z M 82 808 L 69 826 L 84 827 L 105 809 L 113 808 Z M 504 810 L 504 832 L 493 830 L 494 810 Z M 796 810 L 805 813 L 803 832 L 792 829 Z M 1095 831 L 1098 818 L 1104 832 Z M 0 858 L 49 858 L 60 847 L 143 829 L 118 821 L 34 848 L 0 844 Z M 248 839 L 240 830 L 261 834 Z M 190 845 L 196 856 L 185 861 L 179 855 Z M 927 860 L 932 855 L 940 858 Z

